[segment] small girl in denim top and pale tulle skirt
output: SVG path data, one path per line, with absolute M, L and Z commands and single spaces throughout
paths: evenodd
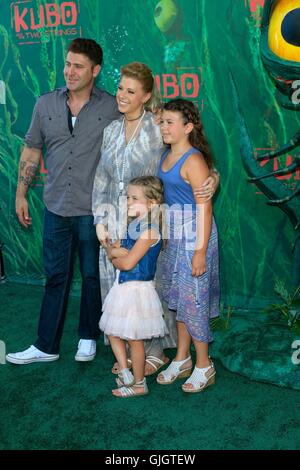
M 145 176 L 131 180 L 127 190 L 130 222 L 126 237 L 107 248 L 117 271 L 103 304 L 99 326 L 108 336 L 120 367 L 118 388 L 112 391 L 116 397 L 148 393 L 144 340 L 168 333 L 153 281 L 162 247 L 159 223 L 162 202 L 163 186 L 158 178 Z M 126 342 L 133 374 L 128 369 Z

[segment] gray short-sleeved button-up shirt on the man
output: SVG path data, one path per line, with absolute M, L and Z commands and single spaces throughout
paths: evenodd
M 25 143 L 46 148 L 47 209 L 64 217 L 91 215 L 103 130 L 120 114 L 115 97 L 94 87 L 71 132 L 67 93 L 64 87 L 38 98 Z

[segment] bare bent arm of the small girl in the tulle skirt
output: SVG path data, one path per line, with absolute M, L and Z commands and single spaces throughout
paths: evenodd
M 142 233 L 141 237 L 133 245 L 126 256 L 114 258 L 112 260 L 113 265 L 121 271 L 130 271 L 130 269 L 133 269 L 137 265 L 140 259 L 142 259 L 142 257 L 147 253 L 151 245 L 154 245 L 158 239 L 159 235 L 155 230 L 146 230 Z

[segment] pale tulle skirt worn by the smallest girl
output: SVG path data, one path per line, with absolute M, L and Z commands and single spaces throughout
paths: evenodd
M 108 336 L 128 340 L 150 339 L 168 333 L 153 281 L 117 279 L 107 294 L 99 327 Z

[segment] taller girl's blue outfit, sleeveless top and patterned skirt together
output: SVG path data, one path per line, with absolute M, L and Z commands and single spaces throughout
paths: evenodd
M 218 233 L 212 220 L 211 235 L 206 251 L 206 272 L 192 276 L 192 257 L 196 240 L 196 203 L 191 186 L 180 175 L 182 165 L 195 152 L 191 148 L 170 170 L 163 171 L 162 156 L 158 177 L 164 184 L 168 242 L 162 252 L 161 290 L 170 310 L 176 310 L 176 320 L 183 322 L 197 341 L 213 340 L 209 320 L 219 315 L 219 252 Z

